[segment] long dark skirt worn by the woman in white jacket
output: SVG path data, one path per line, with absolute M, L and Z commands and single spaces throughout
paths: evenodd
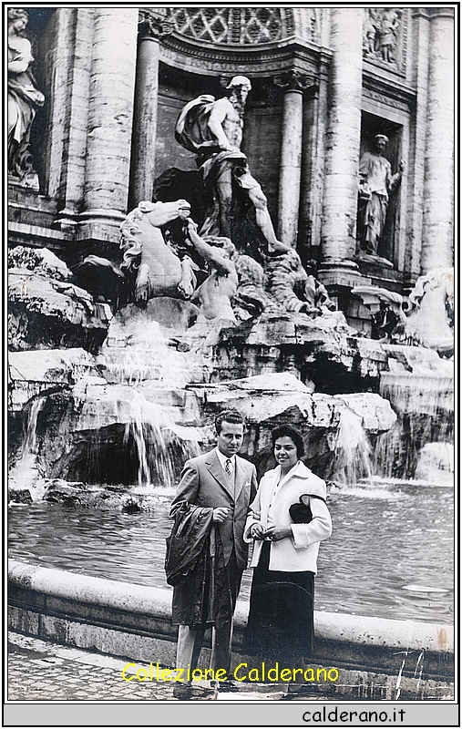
M 305 658 L 313 653 L 314 573 L 269 570 L 270 546 L 263 542 L 253 570 L 246 647 L 262 658 Z

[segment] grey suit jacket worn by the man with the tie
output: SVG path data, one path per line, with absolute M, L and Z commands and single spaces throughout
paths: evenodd
M 231 508 L 230 516 L 216 526 L 225 564 L 228 564 L 234 546 L 237 565 L 245 570 L 248 546 L 244 543 L 243 532 L 249 504 L 257 491 L 257 473 L 252 463 L 244 458 L 236 456 L 235 464 L 234 488 L 230 488 L 215 448 L 210 453 L 186 461 L 171 513 L 175 513 L 180 501 L 188 501 L 198 507 Z

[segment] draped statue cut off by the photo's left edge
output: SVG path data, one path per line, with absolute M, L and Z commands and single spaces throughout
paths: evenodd
M 22 34 L 29 15 L 22 8 L 8 10 L 8 173 L 26 187 L 38 190 L 38 177 L 29 150 L 30 129 L 45 97 L 30 69 L 34 57 Z

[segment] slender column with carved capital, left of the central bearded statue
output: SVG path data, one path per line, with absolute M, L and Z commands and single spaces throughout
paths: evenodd
M 156 134 L 159 96 L 159 39 L 171 33 L 172 26 L 139 11 L 139 49 L 133 147 L 131 162 L 130 208 L 141 200 L 152 200 L 156 166 Z

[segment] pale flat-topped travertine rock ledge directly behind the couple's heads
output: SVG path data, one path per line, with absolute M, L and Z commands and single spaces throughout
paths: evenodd
M 368 475 L 371 445 L 367 436 L 386 432 L 396 420 L 389 403 L 380 395 L 313 393 L 313 384 L 303 385 L 289 373 L 190 385 L 189 389 L 200 400 L 210 447 L 213 417 L 226 407 L 242 413 L 247 423 L 242 453 L 252 457 L 262 472 L 274 465 L 272 428 L 287 423 L 303 434 L 305 462 L 317 473 L 343 478 L 348 469 L 350 478 Z

